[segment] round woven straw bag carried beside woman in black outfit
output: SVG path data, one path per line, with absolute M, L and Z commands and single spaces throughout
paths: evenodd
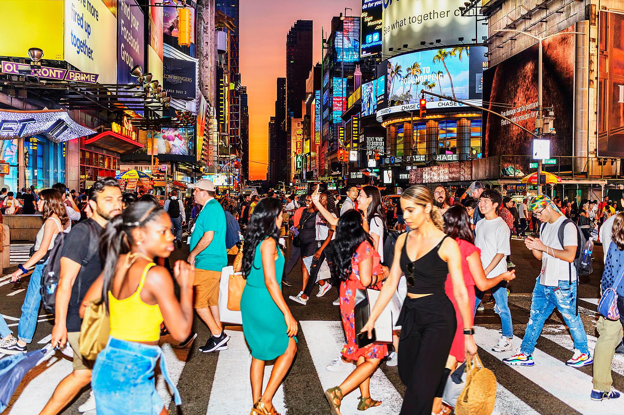
M 456 415 L 490 415 L 496 401 L 496 376 L 483 367 L 479 355 L 466 356 L 466 386 L 457 398 Z

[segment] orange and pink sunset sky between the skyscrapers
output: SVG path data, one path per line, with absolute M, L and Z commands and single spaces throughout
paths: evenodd
M 249 176 L 266 178 L 268 123 L 275 115 L 275 80 L 286 74 L 286 34 L 297 21 L 314 21 L 312 63 L 321 58 L 321 26 L 331 17 L 359 16 L 361 0 L 240 1 L 240 72 L 249 100 Z

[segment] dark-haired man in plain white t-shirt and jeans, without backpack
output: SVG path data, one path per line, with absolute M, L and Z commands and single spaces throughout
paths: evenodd
M 494 278 L 507 272 L 505 256 L 511 254 L 509 247 L 510 230 L 507 223 L 497 214 L 502 196 L 494 189 L 485 189 L 479 198 L 479 211 L 484 219 L 475 226 L 474 244 L 481 250 L 481 264 L 485 267 L 485 276 Z M 492 347 L 492 351 L 512 350 L 512 338 L 514 338 L 514 326 L 511 321 L 511 312 L 507 305 L 507 282 L 501 281 L 491 289 L 495 300 L 494 311 L 500 316 L 502 336 L 499 343 Z M 475 287 L 475 312 L 481 302 L 484 293 Z

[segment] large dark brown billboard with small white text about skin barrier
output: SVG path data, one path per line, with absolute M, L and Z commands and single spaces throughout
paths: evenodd
M 561 32 L 573 32 L 574 26 Z M 560 32 L 560 33 L 561 33 Z M 572 155 L 575 36 L 544 41 L 544 107 L 553 107 L 556 134 L 549 134 L 552 156 Z M 538 55 L 534 44 L 484 72 L 486 108 L 535 129 L 538 107 Z M 484 113 L 484 156 L 530 155 L 534 136 L 503 118 Z M 528 171 L 528 167 L 523 171 Z M 505 168 L 505 166 L 504 166 Z

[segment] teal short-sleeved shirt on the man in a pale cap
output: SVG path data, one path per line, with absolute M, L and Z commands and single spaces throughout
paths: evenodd
M 195 220 L 195 229 L 191 235 L 191 250 L 202 239 L 205 232 L 214 231 L 215 236 L 206 249 L 195 257 L 195 268 L 220 271 L 228 265 L 227 248 L 225 247 L 225 212 L 217 199 L 210 199 Z

